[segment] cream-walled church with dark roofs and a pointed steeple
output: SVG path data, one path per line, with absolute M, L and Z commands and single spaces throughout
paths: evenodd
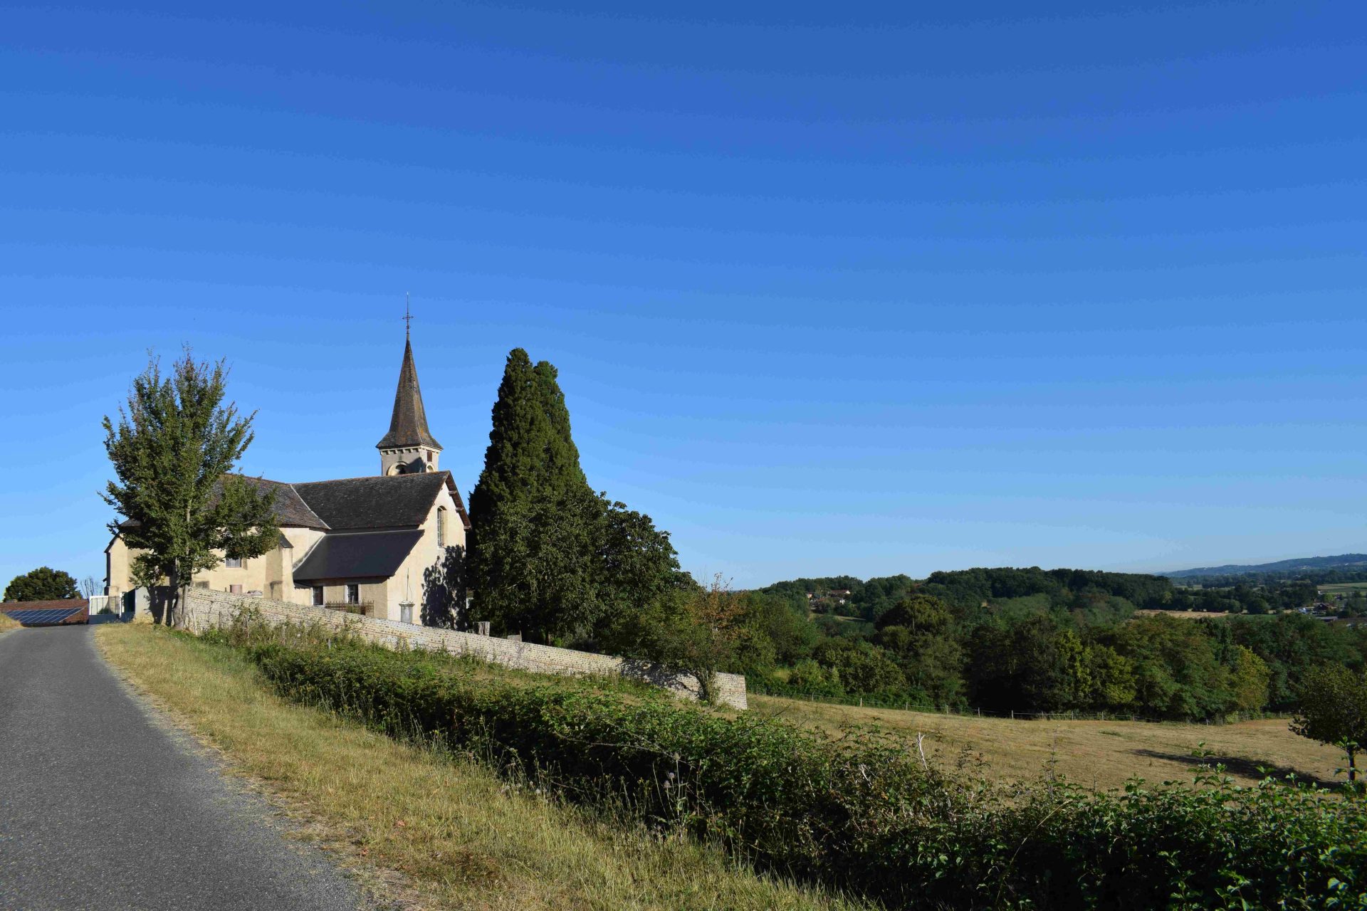
M 451 473 L 440 468 L 442 444 L 428 430 L 410 340 L 390 432 L 376 449 L 380 473 L 370 477 L 250 478 L 275 490 L 279 544 L 260 557 L 224 559 L 191 585 L 406 623 L 421 623 L 424 605 L 457 601 L 470 519 Z M 107 594 L 141 612 L 149 595 L 134 586 L 131 556 L 122 535 L 105 548 Z

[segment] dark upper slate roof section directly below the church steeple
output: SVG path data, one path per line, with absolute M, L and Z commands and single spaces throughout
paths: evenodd
M 294 489 L 334 531 L 413 529 L 427 519 L 432 501 L 450 477 L 450 471 L 377 474 L 310 481 L 295 483 Z

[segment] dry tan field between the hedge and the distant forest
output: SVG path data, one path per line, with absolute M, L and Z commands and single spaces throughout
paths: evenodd
M 1245 781 L 1262 779 L 1258 766 L 1278 774 L 1333 784 L 1342 754 L 1296 736 L 1285 720 L 1239 724 L 1151 724 L 1144 721 L 1012 721 L 943 716 L 750 695 L 750 710 L 838 732 L 842 724 L 878 724 L 916 736 L 924 733 L 931 762 L 969 763 L 999 780 L 1039 777 L 1053 768 L 1089 788 L 1124 787 L 1131 776 L 1151 783 L 1189 780 L 1204 742 L 1214 759 Z

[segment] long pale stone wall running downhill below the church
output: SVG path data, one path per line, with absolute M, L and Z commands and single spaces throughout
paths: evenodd
M 573 649 L 556 649 L 530 642 L 513 642 L 510 639 L 481 636 L 473 632 L 420 627 L 398 620 L 362 617 L 339 611 L 328 611 L 327 608 L 314 608 L 312 605 L 288 604 L 271 598 L 204 589 L 191 589 L 186 595 L 186 604 L 182 606 L 186 613 L 186 623 L 195 632 L 226 626 L 238 611 L 254 608 L 261 612 L 261 616 L 268 623 L 321 623 L 331 627 L 342 627 L 350 623 L 355 635 L 368 642 L 383 645 L 387 649 L 409 647 L 425 649 L 428 651 L 447 651 L 450 654 L 468 654 L 481 661 L 502 664 L 518 671 L 532 671 L 534 673 L 633 677 L 664 687 L 681 697 L 697 698 L 697 679 L 692 673 L 673 672 L 648 661 L 615 658 L 608 654 L 574 651 Z M 723 705 L 734 709 L 748 707 L 745 701 L 745 677 L 738 673 L 716 675 L 716 694 L 718 701 Z

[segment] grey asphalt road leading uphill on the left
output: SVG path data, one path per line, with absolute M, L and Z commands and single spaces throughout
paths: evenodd
M 159 725 L 92 636 L 0 635 L 0 908 L 365 907 L 264 800 Z

